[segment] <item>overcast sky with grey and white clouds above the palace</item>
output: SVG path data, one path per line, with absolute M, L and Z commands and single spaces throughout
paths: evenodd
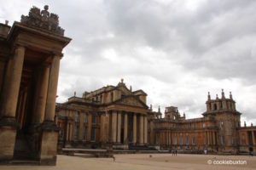
M 241 122 L 256 124 L 255 0 L 0 0 L 0 21 L 33 5 L 59 14 L 65 36 L 58 102 L 121 78 L 161 111 L 206 111 L 207 92 L 232 91 Z

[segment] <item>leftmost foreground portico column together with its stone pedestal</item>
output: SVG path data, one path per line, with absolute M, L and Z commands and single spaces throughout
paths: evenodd
M 9 73 L 6 76 L 8 84 L 5 84 L 6 95 L 3 100 L 3 110 L 0 118 L 0 161 L 9 161 L 13 158 L 15 149 L 16 107 L 20 91 L 20 79 L 23 68 L 25 48 L 15 47 L 15 55 L 12 65 L 9 65 Z

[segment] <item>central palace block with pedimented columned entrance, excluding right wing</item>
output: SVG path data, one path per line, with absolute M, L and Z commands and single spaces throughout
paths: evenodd
M 126 88 L 123 80 L 94 92 L 84 92 L 56 105 L 61 131 L 59 146 L 128 149 L 148 144 L 148 106 L 143 90 Z

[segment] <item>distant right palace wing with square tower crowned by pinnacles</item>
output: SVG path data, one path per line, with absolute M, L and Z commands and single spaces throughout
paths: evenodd
M 165 149 L 208 150 L 236 154 L 256 150 L 256 126 L 241 127 L 241 113 L 236 111 L 236 102 L 230 93 L 227 99 L 207 96 L 207 111 L 201 118 L 186 119 L 180 116 L 177 107 L 166 107 L 165 118 L 148 117 L 149 144 Z M 160 111 L 159 111 L 160 112 Z M 154 115 L 154 114 L 151 114 Z

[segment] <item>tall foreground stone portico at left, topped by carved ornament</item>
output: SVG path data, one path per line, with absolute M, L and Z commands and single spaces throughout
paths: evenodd
M 0 163 L 55 165 L 55 97 L 61 51 L 71 41 L 58 24 L 48 6 L 0 24 Z

